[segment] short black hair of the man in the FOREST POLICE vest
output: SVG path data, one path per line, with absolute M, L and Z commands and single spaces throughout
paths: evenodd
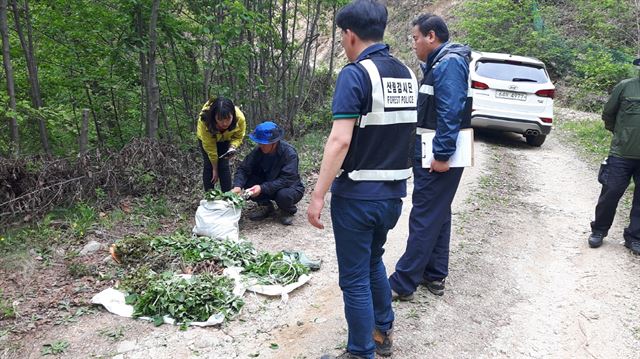
M 336 24 L 361 40 L 381 41 L 387 27 L 387 8 L 376 0 L 354 0 L 338 12 Z

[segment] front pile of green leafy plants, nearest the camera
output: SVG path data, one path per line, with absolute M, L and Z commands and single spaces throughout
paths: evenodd
M 234 282 L 228 277 L 201 274 L 185 278 L 165 272 L 147 278 L 151 281 L 146 288 L 127 296 L 127 304 L 133 305 L 134 317 L 151 317 L 155 325 L 164 323 L 164 315 L 181 325 L 204 322 L 218 313 L 228 320 L 244 305 L 233 294 Z

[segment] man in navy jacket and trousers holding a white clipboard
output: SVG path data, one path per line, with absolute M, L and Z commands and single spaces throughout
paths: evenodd
M 443 295 L 449 271 L 451 202 L 462 177 L 462 167 L 450 168 L 461 128 L 470 127 L 468 46 L 449 42 L 444 20 L 423 14 L 413 23 L 413 49 L 423 79 L 418 96 L 418 125 L 413 162 L 413 208 L 407 247 L 389 277 L 394 298 L 412 300 L 418 285 Z M 435 131 L 430 168 L 422 168 L 421 134 Z M 426 154 L 429 156 L 430 154 Z

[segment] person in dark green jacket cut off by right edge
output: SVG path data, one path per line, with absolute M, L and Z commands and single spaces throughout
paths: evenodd
M 640 66 L 640 58 L 633 62 Z M 613 133 L 609 157 L 600 166 L 598 182 L 602 191 L 596 205 L 596 218 L 591 222 L 589 246 L 602 245 L 616 215 L 620 198 L 633 177 L 636 184 L 624 229 L 624 245 L 633 254 L 640 254 L 640 73 L 635 78 L 617 84 L 602 111 L 604 127 Z

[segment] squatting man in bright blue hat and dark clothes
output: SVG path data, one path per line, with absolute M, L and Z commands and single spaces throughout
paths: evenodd
M 282 140 L 284 130 L 271 121 L 256 126 L 249 138 L 258 144 L 240 163 L 231 191 L 246 190 L 259 205 L 249 216 L 251 220 L 265 219 L 274 212 L 275 201 L 280 209 L 280 222 L 293 223 L 293 215 L 304 194 L 298 173 L 298 153 Z

